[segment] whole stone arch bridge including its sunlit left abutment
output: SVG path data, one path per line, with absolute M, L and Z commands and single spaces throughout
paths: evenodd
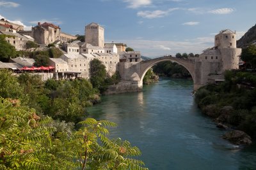
M 148 69 L 157 64 L 158 62 L 162 62 L 165 60 L 170 60 L 172 62 L 177 62 L 181 66 L 184 66 L 189 73 L 191 74 L 194 82 L 194 89 L 198 89 L 200 86 L 198 83 L 198 78 L 200 76 L 196 76 L 196 63 L 195 60 L 189 59 L 179 59 L 171 56 L 159 57 L 156 59 L 143 60 L 141 62 L 120 62 L 119 64 L 119 72 L 122 80 L 132 81 L 134 87 L 138 87 L 139 89 L 143 87 L 143 78 L 147 73 Z

